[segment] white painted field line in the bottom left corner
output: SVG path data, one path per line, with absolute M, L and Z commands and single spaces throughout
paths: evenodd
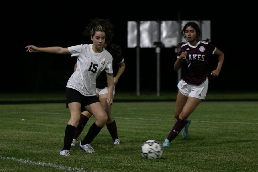
M 85 170 L 83 168 L 73 168 L 73 167 L 68 167 L 68 166 L 62 166 L 62 165 L 56 165 L 52 163 L 42 163 L 42 162 L 35 162 L 35 161 L 30 161 L 30 160 L 24 160 L 24 159 L 17 159 L 13 157 L 2 157 L 0 156 L 0 159 L 3 160 L 13 160 L 13 161 L 18 161 L 20 163 L 25 163 L 25 164 L 32 164 L 32 165 L 41 165 L 44 167 L 54 167 L 56 169 L 62 169 L 62 170 L 71 170 L 71 171 L 82 171 L 82 172 L 91 172 L 89 170 Z M 92 171 L 92 172 L 100 172 L 100 171 Z

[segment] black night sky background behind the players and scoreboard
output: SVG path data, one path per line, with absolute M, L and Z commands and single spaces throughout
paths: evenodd
M 22 4 L 23 6 L 26 6 Z M 111 8 L 99 4 L 3 5 L 1 12 L 1 92 L 64 91 L 73 73 L 76 58 L 70 55 L 27 53 L 27 45 L 38 47 L 90 44 L 81 33 L 92 18 L 110 19 L 114 24 L 113 42 L 123 50 L 126 70 L 117 85 L 119 91 L 136 92 L 136 49 L 127 48 L 127 21 L 136 20 L 211 20 L 211 41 L 225 54 L 219 77 L 209 77 L 209 91 L 257 91 L 257 29 L 255 10 L 245 6 L 197 7 L 177 10 L 169 5 L 138 6 L 126 2 Z M 186 4 L 183 5 L 184 8 Z M 240 9 L 241 7 L 241 9 Z M 161 93 L 177 90 L 173 65 L 174 48 L 161 48 Z M 211 60 L 211 69 L 216 60 Z M 140 49 L 140 90 L 156 91 L 155 48 Z

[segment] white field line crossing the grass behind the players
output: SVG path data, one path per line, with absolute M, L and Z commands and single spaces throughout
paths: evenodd
M 67 115 L 67 113 L 54 113 L 54 112 L 11 112 L 11 113 L 32 113 L 32 114 L 63 114 Z M 126 119 L 126 120 L 147 120 L 147 121 L 175 121 L 175 120 L 165 120 L 165 119 L 147 119 L 147 118 L 129 118 L 129 117 L 117 117 L 118 119 Z M 227 121 L 192 121 L 194 123 L 215 123 L 215 124 L 258 124 L 257 122 L 227 122 Z

